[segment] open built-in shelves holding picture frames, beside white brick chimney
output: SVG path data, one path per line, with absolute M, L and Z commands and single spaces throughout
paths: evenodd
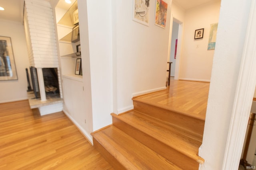
M 61 18 L 57 21 L 57 31 L 59 37 L 60 61 L 62 66 L 62 77 L 81 77 L 75 74 L 76 59 L 81 58 L 81 52 L 77 51 L 76 46 L 80 44 L 79 23 L 78 23 L 78 3 L 74 2 L 70 8 L 65 12 L 60 8 L 59 16 Z M 57 12 L 56 12 L 57 13 Z M 61 15 L 63 14 L 63 16 Z

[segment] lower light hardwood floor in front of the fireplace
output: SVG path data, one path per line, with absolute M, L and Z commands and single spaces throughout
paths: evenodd
M 0 104 L 0 170 L 113 170 L 63 112 Z

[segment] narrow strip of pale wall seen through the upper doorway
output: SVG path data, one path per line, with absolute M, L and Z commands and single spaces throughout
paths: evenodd
M 171 51 L 170 51 L 170 60 L 169 60 L 170 62 L 172 62 L 171 76 L 174 76 L 174 71 L 175 71 L 176 59 L 174 59 L 174 56 L 175 56 L 176 39 L 178 39 L 178 31 L 179 31 L 179 24 L 173 21 L 172 22 L 172 40 L 171 40 L 171 47 L 170 47 Z

